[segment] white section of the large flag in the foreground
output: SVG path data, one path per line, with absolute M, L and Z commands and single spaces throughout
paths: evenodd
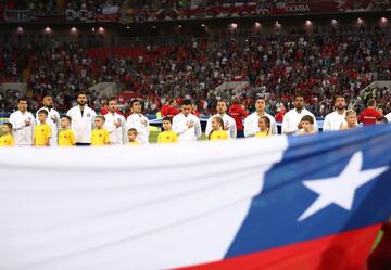
M 287 145 L 276 137 L 2 150 L 0 269 L 163 269 L 219 260 Z

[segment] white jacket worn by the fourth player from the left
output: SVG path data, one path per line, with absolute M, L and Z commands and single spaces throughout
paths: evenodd
M 122 145 L 127 142 L 127 136 L 126 136 L 126 120 L 125 117 L 117 113 L 108 113 L 104 115 L 104 128 L 110 133 L 110 143 Z M 114 123 L 121 123 L 119 127 L 116 127 Z

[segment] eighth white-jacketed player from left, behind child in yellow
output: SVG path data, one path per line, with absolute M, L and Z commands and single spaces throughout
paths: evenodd
M 254 137 L 256 132 L 260 132 L 258 121 L 260 117 L 266 116 L 270 120 L 270 133 L 277 134 L 277 125 L 275 118 L 265 112 L 266 102 L 264 99 L 257 99 L 255 101 L 255 112 L 245 117 L 244 119 L 244 137 Z

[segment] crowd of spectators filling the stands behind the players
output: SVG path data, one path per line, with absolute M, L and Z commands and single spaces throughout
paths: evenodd
M 111 53 L 91 57 L 89 49 L 77 43 L 53 41 L 42 46 L 42 40 L 29 39 L 1 49 L 0 80 L 26 81 L 25 95 L 33 111 L 49 92 L 64 113 L 80 90 L 88 92 L 91 106 L 99 111 L 108 97 L 88 89 L 112 81 L 118 92 L 130 90 L 146 101 L 148 113 L 156 113 L 172 97 L 178 98 L 178 103 L 194 100 L 206 115 L 214 113 L 219 100 L 230 103 L 232 97 L 239 97 L 245 108 L 253 111 L 254 100 L 262 97 L 267 101 L 267 112 L 276 115 L 282 104 L 292 107 L 294 92 L 301 91 L 315 116 L 324 117 L 332 110 L 337 94 L 345 97 L 349 107 L 360 113 L 370 98 L 361 95 L 363 86 L 391 79 L 390 40 L 390 29 L 380 27 L 361 27 L 353 33 L 317 28 L 313 35 L 223 31 L 168 48 L 150 46 L 137 56 Z M 215 90 L 236 80 L 249 83 L 239 90 Z M 12 111 L 21 95 L 13 92 L 1 97 L 0 111 Z M 391 111 L 390 89 L 378 89 L 374 98 L 384 113 Z M 123 100 L 122 105 L 127 102 Z

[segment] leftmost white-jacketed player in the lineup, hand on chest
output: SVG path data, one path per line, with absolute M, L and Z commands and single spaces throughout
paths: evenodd
M 10 115 L 12 124 L 12 134 L 16 146 L 31 146 L 35 127 L 35 118 L 27 112 L 27 100 L 17 101 L 17 111 Z

